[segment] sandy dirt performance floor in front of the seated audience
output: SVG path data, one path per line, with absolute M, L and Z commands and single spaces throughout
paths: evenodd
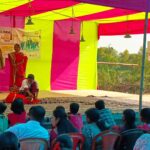
M 0 100 L 3 101 L 8 93 L 0 93 Z M 103 99 L 106 107 L 112 109 L 113 112 L 122 112 L 124 109 L 132 108 L 138 111 L 138 95 L 101 91 L 101 90 L 83 90 L 83 91 L 40 91 L 39 99 L 41 104 L 46 109 L 46 116 L 50 116 L 52 111 L 58 105 L 63 105 L 69 111 L 69 104 L 71 102 L 78 102 L 80 104 L 80 112 L 84 113 L 86 109 L 94 107 L 94 103 L 98 99 Z M 25 105 L 26 111 L 31 105 Z M 150 107 L 150 95 L 143 96 L 143 107 Z M 10 112 L 10 104 L 6 114 Z

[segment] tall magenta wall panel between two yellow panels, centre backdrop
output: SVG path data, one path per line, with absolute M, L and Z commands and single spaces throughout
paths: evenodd
M 72 21 L 55 21 L 51 66 L 51 89 L 77 89 L 80 22 L 74 21 L 75 34 L 69 34 Z

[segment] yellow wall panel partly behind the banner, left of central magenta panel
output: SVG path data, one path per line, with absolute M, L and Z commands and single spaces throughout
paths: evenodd
M 40 59 L 28 60 L 27 74 L 33 73 L 40 90 L 50 90 L 50 70 L 53 43 L 53 22 L 34 20 L 34 25 L 26 25 L 26 30 L 41 30 Z

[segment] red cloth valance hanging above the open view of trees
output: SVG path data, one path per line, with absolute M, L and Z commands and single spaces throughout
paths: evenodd
M 99 36 L 123 35 L 123 34 L 126 34 L 127 32 L 129 34 L 143 34 L 144 20 L 99 24 L 99 27 L 98 27 Z M 147 29 L 147 33 L 150 33 L 150 24 Z

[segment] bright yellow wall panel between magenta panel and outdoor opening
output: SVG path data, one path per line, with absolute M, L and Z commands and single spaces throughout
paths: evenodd
M 85 42 L 80 42 L 77 89 L 97 87 L 97 24 L 84 22 Z

